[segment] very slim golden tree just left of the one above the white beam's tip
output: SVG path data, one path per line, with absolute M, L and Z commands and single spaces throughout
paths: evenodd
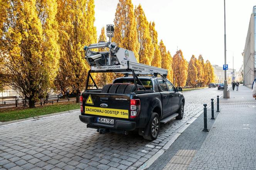
M 161 60 L 162 60 L 162 56 L 160 54 L 160 50 L 159 50 L 159 46 L 158 46 L 158 40 L 157 40 L 157 31 L 155 30 L 155 22 L 150 22 L 149 23 L 149 32 L 150 32 L 150 37 L 152 40 L 152 44 L 153 44 L 153 49 L 154 49 L 154 56 L 153 59 L 151 61 L 151 65 L 155 66 L 155 67 L 160 67 L 161 68 Z

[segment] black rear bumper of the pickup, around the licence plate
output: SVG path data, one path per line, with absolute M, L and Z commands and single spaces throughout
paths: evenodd
M 115 120 L 114 125 L 97 123 L 94 121 L 95 116 L 79 115 L 81 122 L 88 124 L 91 128 L 106 128 L 115 130 L 135 130 L 136 122 L 126 120 Z

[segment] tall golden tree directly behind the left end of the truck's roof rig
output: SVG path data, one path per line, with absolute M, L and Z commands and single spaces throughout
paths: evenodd
M 94 0 L 57 0 L 59 23 L 59 44 L 61 47 L 60 71 L 65 72 L 62 81 L 76 93 L 79 102 L 79 92 L 86 84 L 89 65 L 84 60 L 84 45 L 96 43 L 97 34 L 94 27 Z

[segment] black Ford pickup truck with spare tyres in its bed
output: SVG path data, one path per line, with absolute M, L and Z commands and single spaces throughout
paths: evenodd
M 138 86 L 133 77 L 125 76 L 102 89 L 84 91 L 80 97 L 79 119 L 100 133 L 127 134 L 138 130 L 143 138 L 155 140 L 160 123 L 183 118 L 182 88 L 175 88 L 165 77 L 141 76 L 138 79 L 141 83 Z

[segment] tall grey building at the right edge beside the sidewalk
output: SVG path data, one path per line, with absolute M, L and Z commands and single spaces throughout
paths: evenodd
M 251 87 L 256 78 L 256 6 L 250 17 L 244 52 L 244 85 Z

